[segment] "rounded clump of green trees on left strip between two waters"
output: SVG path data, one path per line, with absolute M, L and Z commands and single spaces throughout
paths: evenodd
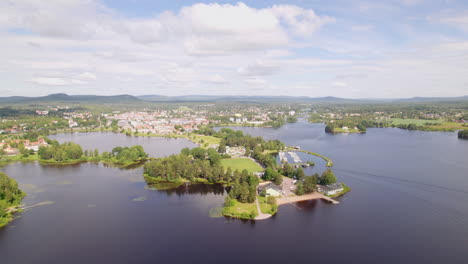
M 57 162 L 78 160 L 83 156 L 83 149 L 80 145 L 73 142 L 65 142 L 63 144 L 53 142 L 49 146 L 39 147 L 38 155 L 40 159 Z

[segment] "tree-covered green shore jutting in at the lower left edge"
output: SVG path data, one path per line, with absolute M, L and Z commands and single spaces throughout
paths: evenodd
M 13 219 L 11 212 L 7 212 L 7 210 L 19 205 L 24 196 L 26 194 L 19 189 L 18 183 L 5 173 L 0 172 L 0 227 L 5 226 Z

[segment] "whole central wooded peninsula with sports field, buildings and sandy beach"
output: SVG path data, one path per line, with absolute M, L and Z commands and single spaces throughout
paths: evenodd
M 199 147 L 184 148 L 180 154 L 145 163 L 144 179 L 156 189 L 175 188 L 187 183 L 227 186 L 222 214 L 239 219 L 262 220 L 271 217 L 281 204 L 332 198 L 350 188 L 337 183 L 331 159 L 318 153 L 286 146 L 279 140 L 244 135 L 242 131 L 222 128 L 218 132 L 205 127 L 197 131 Z M 215 140 L 216 139 L 216 140 Z M 205 144 L 217 142 L 219 144 Z M 289 164 L 276 161 L 285 152 L 297 158 L 297 152 L 319 156 L 326 161 L 321 175 L 305 175 L 303 167 L 313 162 Z

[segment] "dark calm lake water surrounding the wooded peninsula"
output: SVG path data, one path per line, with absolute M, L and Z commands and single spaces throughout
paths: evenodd
M 338 205 L 282 205 L 270 219 L 239 221 L 210 217 L 224 199 L 219 186 L 157 191 L 145 188 L 142 168 L 10 164 L 1 171 L 28 193 L 26 205 L 53 203 L 0 230 L 1 263 L 466 263 L 468 141 L 455 133 L 329 135 L 302 122 L 239 129 L 331 158 L 352 191 Z M 193 147 L 181 139 L 89 136 L 54 138 L 101 151 L 141 144 L 158 157 Z

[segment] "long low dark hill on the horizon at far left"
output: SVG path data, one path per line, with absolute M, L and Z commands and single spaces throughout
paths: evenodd
M 67 95 L 63 93 L 40 97 L 11 96 L 0 97 L 0 104 L 34 104 L 34 103 L 77 103 L 77 104 L 129 104 L 141 103 L 142 100 L 132 95 Z

